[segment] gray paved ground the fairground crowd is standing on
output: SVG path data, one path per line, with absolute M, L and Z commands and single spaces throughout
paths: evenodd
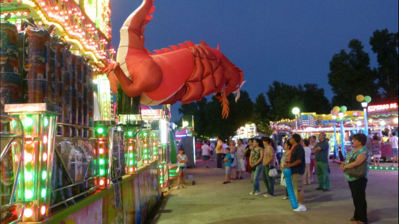
M 330 163 L 332 190 L 320 192 L 313 183 L 304 186 L 307 212 L 292 211 L 290 202 L 282 200 L 285 190 L 275 184 L 275 197 L 249 195 L 252 190 L 250 174 L 244 180 L 222 184 L 224 170 L 203 168 L 199 161 L 196 168 L 189 168 L 195 185 L 179 190 L 172 188 L 147 223 L 155 224 L 250 224 L 250 223 L 353 223 L 354 206 L 348 183 L 338 164 Z M 261 191 L 266 187 L 261 180 Z M 371 170 L 366 189 L 369 223 L 399 223 L 398 171 Z

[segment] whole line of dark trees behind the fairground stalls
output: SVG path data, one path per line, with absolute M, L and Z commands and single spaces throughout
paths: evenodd
M 289 85 L 274 81 L 269 89 L 260 93 L 255 102 L 246 91 L 241 91 L 241 97 L 235 102 L 230 94 L 230 113 L 227 119 L 221 119 L 219 100 L 212 97 L 210 101 L 184 104 L 179 113 L 183 115 L 176 124 L 182 125 L 182 119 L 192 126 L 194 116 L 195 135 L 198 138 L 221 137 L 235 135 L 235 131 L 248 122 L 257 124 L 259 131 L 271 133 L 270 121 L 282 118 L 294 118 L 292 108 L 301 111 L 330 113 L 333 105 L 345 105 L 349 109 L 360 109 L 356 95 L 369 95 L 375 103 L 390 103 L 398 101 L 398 33 L 389 33 L 387 29 L 376 30 L 370 37 L 369 44 L 377 55 L 378 66 L 371 68 L 369 54 L 364 52 L 362 43 L 353 39 L 349 42 L 349 52 L 342 49 L 334 54 L 330 61 L 328 83 L 332 87 L 334 96 L 330 102 L 315 83 L 303 85 Z

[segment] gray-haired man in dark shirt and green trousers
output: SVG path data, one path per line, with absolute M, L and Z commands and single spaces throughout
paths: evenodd
M 330 191 L 330 173 L 328 172 L 328 142 L 326 141 L 326 133 L 319 134 L 319 143 L 312 149 L 315 153 L 316 173 L 319 186 L 316 190 Z

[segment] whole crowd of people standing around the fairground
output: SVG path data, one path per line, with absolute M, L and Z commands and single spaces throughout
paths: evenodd
M 392 145 L 393 155 L 397 155 L 395 133 L 392 134 L 389 141 Z M 367 166 L 370 155 L 374 156 L 375 165 L 379 165 L 378 155 L 381 154 L 381 140 L 378 135 L 369 139 L 366 135 L 358 133 L 352 135 L 352 143 L 354 149 L 347 155 L 346 160 L 341 164 L 341 168 L 345 172 L 345 179 L 348 181 L 355 206 L 354 216 L 350 220 L 361 224 L 367 222 L 367 202 L 365 200 L 368 178 Z M 369 145 L 367 145 L 368 143 Z M 244 178 L 245 172 L 250 173 L 251 183 L 253 184 L 252 191 L 249 193 L 251 195 L 261 195 L 259 176 L 262 174 L 263 182 L 267 188 L 267 193 L 263 195 L 266 198 L 275 196 L 274 186 L 277 177 L 272 171 L 280 168 L 280 184 L 286 186 L 286 178 L 282 171 L 290 168 L 292 186 L 298 202 L 298 208 L 294 211 L 305 212 L 307 209 L 304 204 L 303 186 L 314 182 L 315 173 L 318 179 L 318 186 L 315 190 L 324 192 L 331 190 L 330 167 L 328 165 L 329 148 L 325 133 L 319 133 L 318 137 L 312 135 L 306 139 L 302 139 L 298 134 L 293 134 L 290 138 L 286 138 L 277 144 L 270 137 L 252 138 L 248 142 L 238 139 L 237 145 L 233 140 L 222 141 L 220 137 L 217 137 L 215 142 L 201 143 L 198 141 L 196 156 L 198 159 L 202 158 L 204 166 L 209 168 L 209 159 L 213 160 L 213 151 L 215 151 L 217 160 L 215 169 L 225 170 L 223 184 L 231 183 L 231 180 L 241 180 Z M 184 159 L 186 158 L 182 157 L 181 154 L 178 155 L 179 163 L 184 163 Z M 359 176 L 347 172 L 348 169 L 354 168 L 363 169 L 362 174 Z M 286 195 L 282 199 L 289 199 L 287 189 Z

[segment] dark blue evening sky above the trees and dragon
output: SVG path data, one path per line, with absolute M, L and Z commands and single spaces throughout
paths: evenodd
M 140 0 L 112 0 L 112 44 Z M 156 0 L 146 25 L 145 47 L 152 51 L 186 40 L 207 42 L 244 71 L 243 90 L 255 101 L 274 80 L 317 83 L 331 100 L 329 63 L 334 54 L 359 39 L 377 66 L 369 38 L 375 30 L 398 32 L 397 0 L 265 1 Z M 172 121 L 181 117 L 172 105 Z M 312 112 L 312 111 L 304 111 Z

